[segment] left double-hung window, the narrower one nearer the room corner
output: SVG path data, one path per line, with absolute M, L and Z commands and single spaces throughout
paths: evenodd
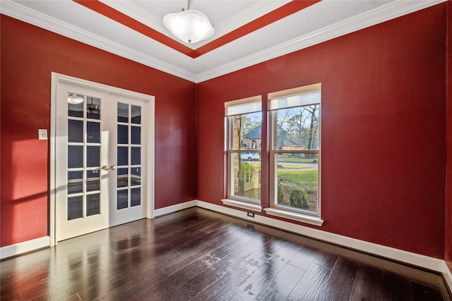
M 261 97 L 225 103 L 227 199 L 223 202 L 258 211 L 261 211 L 261 108 Z

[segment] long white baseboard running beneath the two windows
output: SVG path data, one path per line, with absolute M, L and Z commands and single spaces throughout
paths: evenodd
M 280 221 L 278 219 L 272 219 L 266 216 L 256 215 L 254 217 L 249 217 L 246 216 L 245 211 L 232 209 L 229 207 L 223 207 L 220 205 L 211 204 L 200 200 L 196 200 L 196 206 L 216 211 L 222 214 L 235 216 L 238 217 L 239 219 L 246 219 L 247 221 L 261 223 L 266 226 L 278 228 L 292 233 L 297 233 L 300 235 L 307 236 L 309 238 L 315 238 L 317 240 L 322 240 L 324 242 L 331 242 L 335 245 L 341 245 L 343 247 L 351 248 L 361 252 L 374 254 L 379 257 L 386 257 L 388 259 L 393 259 L 398 262 L 403 262 L 405 264 L 419 266 L 424 269 L 429 269 L 432 271 L 438 271 L 444 275 L 444 278 L 446 279 L 449 288 L 451 288 L 452 290 L 452 273 L 448 269 L 446 262 L 442 259 L 437 259 L 434 257 L 429 257 L 408 251 L 403 251 L 393 247 L 386 247 L 384 245 L 378 245 L 364 240 L 357 240 L 356 238 L 349 238 L 347 236 L 329 233 L 326 231 L 321 231 L 306 226 L 300 226 L 295 223 Z

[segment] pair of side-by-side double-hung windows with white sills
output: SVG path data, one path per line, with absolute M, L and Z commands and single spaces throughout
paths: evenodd
M 321 226 L 321 84 L 273 92 L 268 99 L 269 130 L 262 129 L 267 114 L 261 97 L 225 103 L 227 198 L 222 202 Z M 268 151 L 270 171 L 261 173 L 261 156 Z M 261 199 L 262 181 L 269 183 L 270 207 Z

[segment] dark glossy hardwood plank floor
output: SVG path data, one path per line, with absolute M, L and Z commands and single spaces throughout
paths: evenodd
M 1 300 L 451 300 L 439 274 L 199 208 L 1 262 Z

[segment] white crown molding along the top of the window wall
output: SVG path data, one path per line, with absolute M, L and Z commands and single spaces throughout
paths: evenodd
M 278 56 L 290 54 L 292 52 L 326 42 L 330 39 L 335 39 L 336 37 L 341 37 L 357 30 L 362 30 L 366 27 L 383 23 L 387 20 L 405 16 L 409 13 L 414 13 L 415 11 L 420 11 L 424 8 L 428 8 L 445 1 L 447 0 L 393 1 L 389 4 L 380 6 L 379 8 L 374 8 L 371 11 L 348 18 L 347 20 L 328 25 L 320 30 L 310 32 L 307 35 L 302 35 L 275 47 L 270 47 L 256 54 L 251 54 L 250 56 L 246 56 L 242 59 L 226 63 L 218 68 L 213 68 L 206 72 L 199 73 L 196 75 L 196 82 L 198 83 L 217 78 L 221 75 L 232 73 L 270 59 L 275 59 Z

